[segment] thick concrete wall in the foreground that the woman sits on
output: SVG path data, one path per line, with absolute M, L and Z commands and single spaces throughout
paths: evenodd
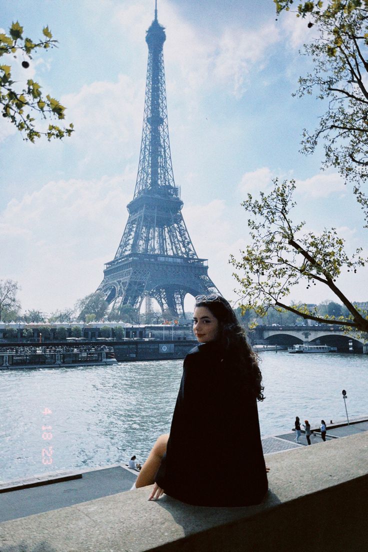
M 146 487 L 2 523 L 0 551 L 366 552 L 367 460 L 368 432 L 321 442 L 266 457 L 262 505 L 149 502 Z

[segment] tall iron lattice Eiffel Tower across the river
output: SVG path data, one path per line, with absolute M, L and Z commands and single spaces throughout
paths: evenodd
M 105 264 L 102 291 L 111 314 L 122 305 L 146 314 L 156 299 L 162 312 L 184 316 L 186 294 L 219 293 L 190 240 L 182 215 L 183 201 L 174 182 L 167 121 L 163 63 L 164 27 L 154 20 L 146 31 L 148 64 L 141 152 L 129 218 L 113 261 Z

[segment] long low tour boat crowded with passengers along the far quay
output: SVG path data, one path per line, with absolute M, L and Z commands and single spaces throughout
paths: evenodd
M 116 364 L 113 347 L 12 347 L 0 351 L 0 370 Z

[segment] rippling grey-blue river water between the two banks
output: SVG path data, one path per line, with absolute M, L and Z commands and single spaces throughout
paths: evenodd
M 368 357 L 264 352 L 262 435 L 289 432 L 295 416 L 319 426 L 368 415 Z M 167 433 L 182 360 L 0 371 L 0 480 L 144 461 Z M 221 444 L 219 444 L 221 446 Z

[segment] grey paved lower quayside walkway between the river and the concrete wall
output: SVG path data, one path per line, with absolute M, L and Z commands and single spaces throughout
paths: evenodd
M 321 443 L 317 428 L 313 429 L 311 444 Z M 352 418 L 327 427 L 327 441 L 368 431 L 368 416 Z M 301 444 L 295 442 L 295 432 L 262 439 L 265 456 L 307 446 L 305 434 Z M 231 474 L 229 473 L 229 476 Z M 0 482 L 0 523 L 42 512 L 50 512 L 79 503 L 128 491 L 137 476 L 125 464 L 85 471 L 63 471 L 42 474 L 19 481 Z M 0 526 L 1 533 L 1 526 Z

